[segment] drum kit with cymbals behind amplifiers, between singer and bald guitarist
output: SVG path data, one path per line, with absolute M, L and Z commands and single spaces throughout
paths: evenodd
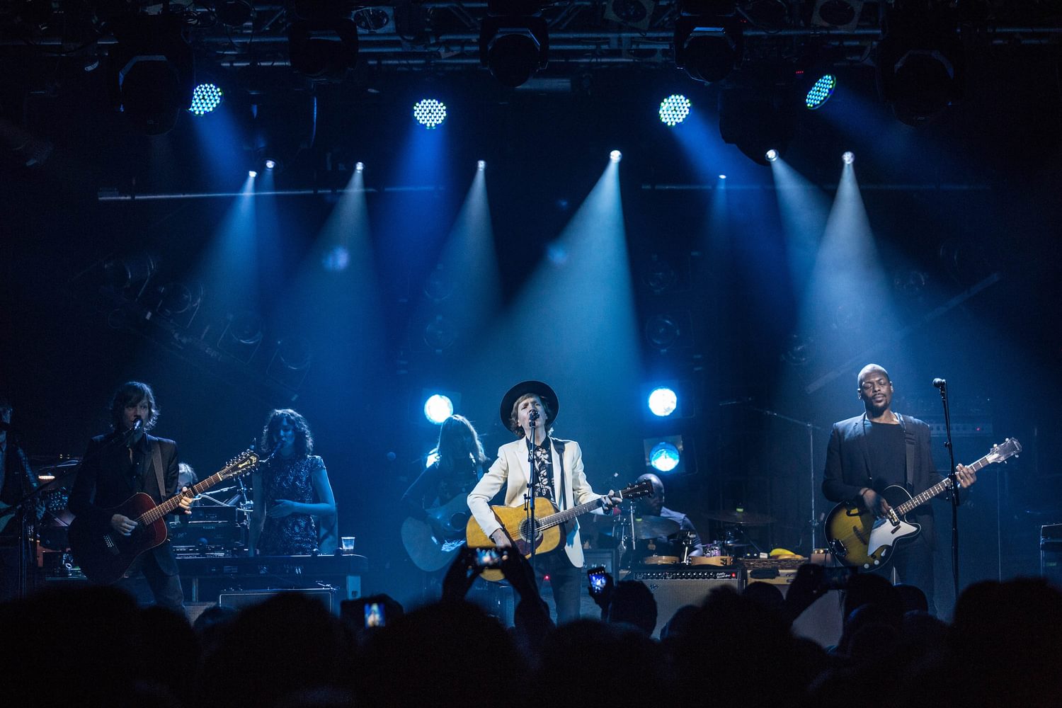
M 646 555 L 640 563 L 646 566 L 729 566 L 735 556 L 748 553 L 748 549 L 759 549 L 744 533 L 744 526 L 763 526 L 774 523 L 774 518 L 767 514 L 746 512 L 744 510 L 724 510 L 712 512 L 707 517 L 719 521 L 723 526 L 723 539 L 706 543 L 703 555 L 691 555 L 697 542 L 697 533 L 683 530 L 678 521 L 660 516 L 634 516 L 634 514 L 612 517 L 607 521 L 611 528 L 602 533 L 616 538 L 622 552 L 637 551 L 644 548 L 653 549 L 652 539 L 676 536 L 676 545 L 681 555 Z M 643 545 L 639 541 L 648 541 Z M 636 553 L 633 554 L 636 557 Z

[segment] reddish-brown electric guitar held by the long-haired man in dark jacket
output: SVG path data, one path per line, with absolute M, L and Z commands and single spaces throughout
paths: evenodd
M 250 450 L 241 453 L 185 494 L 200 495 L 223 480 L 250 472 L 258 464 L 258 455 Z M 88 519 L 78 517 L 70 524 L 70 551 L 82 572 L 95 583 L 115 583 L 121 580 L 133 562 L 144 551 L 166 542 L 166 515 L 181 504 L 181 494 L 156 505 L 142 491 L 135 494 L 118 506 L 104 510 L 109 516 L 121 514 L 137 522 L 136 529 L 125 536 L 110 529 L 100 531 L 90 526 Z

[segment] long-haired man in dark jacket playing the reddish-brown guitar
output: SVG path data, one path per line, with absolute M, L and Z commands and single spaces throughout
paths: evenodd
M 177 491 L 176 443 L 147 434 L 157 422 L 158 413 L 155 395 L 147 383 L 130 381 L 115 392 L 110 400 L 114 431 L 89 442 L 70 491 L 70 511 L 87 518 L 92 528 L 129 536 L 137 522 L 107 510 L 139 491 L 149 495 L 156 504 Z M 162 489 L 155 471 L 156 449 Z M 191 513 L 190 504 L 187 497 L 181 500 L 185 514 Z M 137 556 L 122 583 L 137 572 L 143 573 L 156 604 L 183 611 L 184 592 L 169 540 Z

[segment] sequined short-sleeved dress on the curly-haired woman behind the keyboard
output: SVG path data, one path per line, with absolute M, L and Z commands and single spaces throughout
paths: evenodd
M 258 538 L 261 555 L 305 555 L 318 549 L 318 520 L 309 514 L 289 514 L 279 518 L 269 516 L 277 499 L 312 504 L 313 472 L 324 468 L 318 455 L 277 457 L 262 469 L 266 523 Z

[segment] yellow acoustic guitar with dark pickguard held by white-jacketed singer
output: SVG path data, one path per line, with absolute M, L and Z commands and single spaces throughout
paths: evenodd
M 653 484 L 649 480 L 643 480 L 637 484 L 619 490 L 621 500 L 637 499 L 648 497 L 653 493 Z M 601 498 L 588 501 L 579 506 L 572 506 L 563 512 L 558 512 L 553 502 L 545 497 L 535 497 L 534 500 L 534 531 L 531 529 L 531 519 L 524 506 L 492 506 L 494 518 L 497 519 L 501 528 L 506 530 L 509 537 L 513 539 L 513 546 L 519 550 L 525 557 L 531 556 L 532 545 L 535 553 L 548 553 L 561 545 L 561 539 L 567 533 L 561 533 L 561 525 L 571 521 L 577 516 L 582 516 L 601 508 L 603 502 Z M 465 528 L 465 536 L 469 548 L 494 548 L 494 541 L 483 533 L 476 518 L 469 518 Z M 487 581 L 500 581 L 503 575 L 500 570 L 484 570 L 481 576 Z

